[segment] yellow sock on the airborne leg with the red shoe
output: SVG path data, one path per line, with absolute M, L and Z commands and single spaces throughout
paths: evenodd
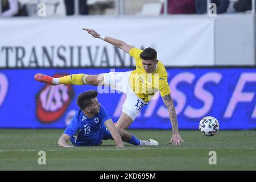
M 60 77 L 59 84 L 85 85 L 86 74 L 72 74 Z

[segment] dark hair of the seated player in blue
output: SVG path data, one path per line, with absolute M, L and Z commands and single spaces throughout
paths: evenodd
M 84 110 L 86 107 L 92 105 L 92 98 L 96 98 L 97 96 L 97 90 L 89 90 L 87 92 L 80 93 L 76 99 L 76 104 L 81 110 Z

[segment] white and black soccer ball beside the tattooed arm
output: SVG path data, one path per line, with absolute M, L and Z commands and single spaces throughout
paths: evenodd
M 219 129 L 218 120 L 212 116 L 204 117 L 199 123 L 199 130 L 207 137 L 215 135 Z

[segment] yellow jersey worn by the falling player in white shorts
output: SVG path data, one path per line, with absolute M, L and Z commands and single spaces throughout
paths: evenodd
M 146 73 L 139 56 L 141 52 L 141 49 L 135 47 L 129 51 L 130 56 L 134 57 L 136 61 L 136 69 L 131 72 L 129 77 L 129 84 L 133 92 L 145 102 L 150 101 L 158 90 L 162 97 L 171 93 L 163 63 L 158 61 L 155 71 Z

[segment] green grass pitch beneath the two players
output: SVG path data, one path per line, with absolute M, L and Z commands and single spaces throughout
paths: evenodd
M 199 131 L 181 130 L 181 146 L 167 144 L 170 130 L 129 130 L 139 139 L 156 139 L 159 146 L 102 146 L 60 148 L 64 130 L 1 129 L 0 170 L 256 170 L 256 131 L 219 131 L 205 137 Z M 39 165 L 39 151 L 46 165 Z M 216 151 L 217 164 L 209 164 Z

